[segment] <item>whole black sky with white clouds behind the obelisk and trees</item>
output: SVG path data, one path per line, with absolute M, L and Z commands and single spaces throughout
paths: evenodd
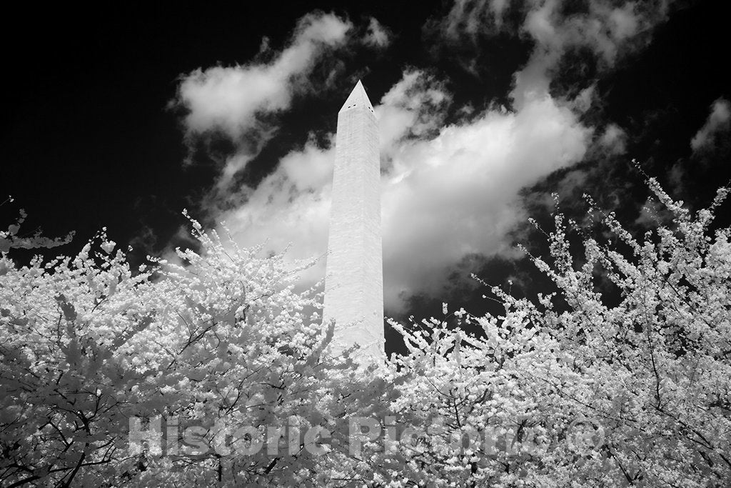
M 663 217 L 632 159 L 692 208 L 730 177 L 724 2 L 357 3 L 26 12 L 27 40 L 1 34 L 0 192 L 26 230 L 76 230 L 64 252 L 102 226 L 138 262 L 170 252 L 187 208 L 240 244 L 323 255 L 336 116 L 360 78 L 386 309 L 404 316 L 476 303 L 471 273 L 534 293 L 515 244 L 541 251 L 527 219 L 551 192 L 643 230 Z

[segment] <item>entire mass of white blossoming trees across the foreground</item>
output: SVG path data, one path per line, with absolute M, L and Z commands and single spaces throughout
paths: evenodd
M 579 229 L 577 258 L 556 213 L 551 259 L 531 259 L 558 293 L 534 304 L 493 288 L 504 315 L 460 309 L 457 329 L 392 321 L 409 353 L 377 371 L 328 355 L 333 324 L 295 288 L 309 263 L 262 258 L 192 219 L 200 253 L 140 270 L 103 230 L 29 266 L 4 249 L 0 483 L 722 486 L 731 230 L 709 229 L 727 190 L 693 215 L 649 184 L 670 225 L 640 241 L 602 214 L 621 245 Z M 357 449 L 352 419 L 368 427 Z M 313 448 L 311 427 L 330 438 Z M 140 429 L 164 435 L 140 448 Z

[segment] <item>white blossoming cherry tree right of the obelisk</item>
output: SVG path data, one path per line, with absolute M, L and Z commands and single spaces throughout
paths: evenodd
M 654 179 L 648 185 L 673 221 L 639 240 L 587 196 L 621 244 L 600 244 L 571 222 L 583 259 L 554 215 L 550 259 L 531 259 L 558 291 L 536 304 L 493 288 L 504 316 L 460 310 L 458 329 L 392 323 L 409 348 L 395 361 L 405 378 L 393 410 L 407 423 L 442 422 L 398 444 L 404 462 L 393 474 L 409 481 L 393 486 L 731 479 L 731 230 L 709 230 L 728 190 L 691 214 Z M 619 304 L 602 296 L 603 278 L 621 291 Z

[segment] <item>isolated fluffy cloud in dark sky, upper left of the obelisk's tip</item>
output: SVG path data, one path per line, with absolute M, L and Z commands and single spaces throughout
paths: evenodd
M 181 80 L 175 102 L 187 110 L 187 137 L 215 131 L 240 144 L 224 162 L 219 191 L 276 132 L 262 116 L 287 110 L 295 94 L 307 91 L 307 75 L 325 54 L 349 42 L 351 30 L 352 23 L 333 14 L 305 15 L 280 52 L 270 53 L 268 39 L 262 40 L 261 51 L 270 61 L 199 68 Z

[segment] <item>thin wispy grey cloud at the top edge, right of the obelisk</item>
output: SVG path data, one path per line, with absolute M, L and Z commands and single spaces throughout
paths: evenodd
M 454 0 L 450 12 L 432 23 L 447 42 L 474 42 L 481 36 L 504 33 L 510 12 L 520 12 L 520 32 L 534 42 L 526 66 L 515 73 L 512 99 L 516 108 L 526 98 L 548 93 L 554 70 L 567 50 L 588 48 L 599 61 L 599 69 L 613 67 L 617 59 L 646 45 L 654 26 L 667 18 L 673 0 L 624 1 L 592 0 L 587 10 L 564 15 L 559 0 Z M 515 7 L 515 8 L 510 8 Z M 469 70 L 474 67 L 468 64 Z

